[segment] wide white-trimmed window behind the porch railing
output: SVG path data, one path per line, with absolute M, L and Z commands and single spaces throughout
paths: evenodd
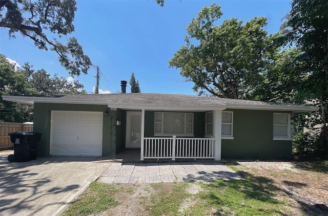
M 155 112 L 155 135 L 194 136 L 194 114 Z

